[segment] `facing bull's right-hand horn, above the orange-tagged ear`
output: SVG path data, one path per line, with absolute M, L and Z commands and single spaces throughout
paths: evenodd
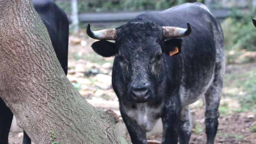
M 191 33 L 192 29 L 191 29 L 189 23 L 187 25 L 188 25 L 188 28 L 163 27 L 164 38 L 188 36 Z

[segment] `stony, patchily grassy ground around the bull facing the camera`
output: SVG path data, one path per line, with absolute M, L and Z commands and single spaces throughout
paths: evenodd
M 90 102 L 110 102 L 104 109 L 115 108 L 111 102 L 118 99 L 111 86 L 113 57 L 103 58 L 95 54 L 90 45 L 96 40 L 88 38 L 85 31 L 69 37 L 68 79 L 80 94 Z M 230 53 L 232 55 L 232 53 Z M 226 54 L 229 56 L 228 52 Z M 256 62 L 227 64 L 220 102 L 220 117 L 216 144 L 255 144 L 256 143 Z M 92 104 L 93 105 L 93 104 Z M 95 106 L 102 108 L 100 105 Z M 202 100 L 196 102 L 191 111 L 195 126 L 190 144 L 205 144 L 204 110 Z M 118 114 L 118 113 L 117 113 Z M 21 144 L 23 133 L 10 133 L 10 144 Z M 161 134 L 148 137 L 161 141 Z

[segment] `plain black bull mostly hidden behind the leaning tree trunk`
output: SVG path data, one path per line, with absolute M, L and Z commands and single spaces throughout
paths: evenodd
M 67 75 L 68 72 L 68 18 L 64 11 L 53 0 L 32 0 L 36 12 L 43 20 L 50 35 L 52 46 Z M 12 123 L 12 111 L 0 98 L 0 144 L 8 144 L 8 134 Z M 24 132 L 23 144 L 31 144 Z

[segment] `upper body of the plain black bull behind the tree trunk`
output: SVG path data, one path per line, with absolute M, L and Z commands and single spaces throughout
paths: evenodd
M 68 71 L 68 18 L 53 0 L 33 0 L 36 12 L 44 22 L 52 46 L 65 74 Z

